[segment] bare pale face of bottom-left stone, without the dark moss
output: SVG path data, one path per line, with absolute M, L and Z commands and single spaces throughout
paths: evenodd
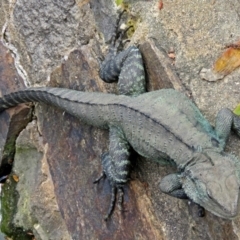
M 28 124 L 16 141 L 13 173 L 19 182 L 15 226 L 31 229 L 36 239 L 71 239 L 61 217 L 46 153 L 36 121 Z M 24 164 L 23 164 L 24 159 Z

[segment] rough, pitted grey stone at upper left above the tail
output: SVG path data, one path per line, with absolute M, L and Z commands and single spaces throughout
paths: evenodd
M 18 67 L 29 85 L 46 83 L 72 49 L 94 37 L 92 14 L 81 2 L 19 0 L 12 5 L 3 37 L 19 56 Z

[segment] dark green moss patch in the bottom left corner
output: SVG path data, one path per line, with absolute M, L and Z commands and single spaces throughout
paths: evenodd
M 9 180 L 2 188 L 1 231 L 13 240 L 32 240 L 33 235 L 31 235 L 31 231 L 13 224 L 13 218 L 16 213 L 16 206 L 19 198 L 16 191 L 16 184 L 17 183 L 13 180 L 12 176 L 10 176 Z

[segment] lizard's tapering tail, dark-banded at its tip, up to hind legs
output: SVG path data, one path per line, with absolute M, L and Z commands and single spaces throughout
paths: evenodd
M 58 107 L 87 124 L 105 127 L 115 118 L 111 105 L 124 101 L 123 98 L 125 96 L 81 92 L 65 88 L 28 88 L 0 98 L 0 112 L 19 103 L 40 102 Z

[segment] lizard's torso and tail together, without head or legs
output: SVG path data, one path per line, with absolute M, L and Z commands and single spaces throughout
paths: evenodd
M 30 88 L 3 96 L 0 110 L 32 101 L 59 107 L 93 126 L 120 126 L 139 154 L 155 160 L 170 158 L 179 166 L 191 158 L 195 148 L 212 147 L 212 139 L 218 141 L 197 107 L 173 89 L 128 97 L 61 88 Z

